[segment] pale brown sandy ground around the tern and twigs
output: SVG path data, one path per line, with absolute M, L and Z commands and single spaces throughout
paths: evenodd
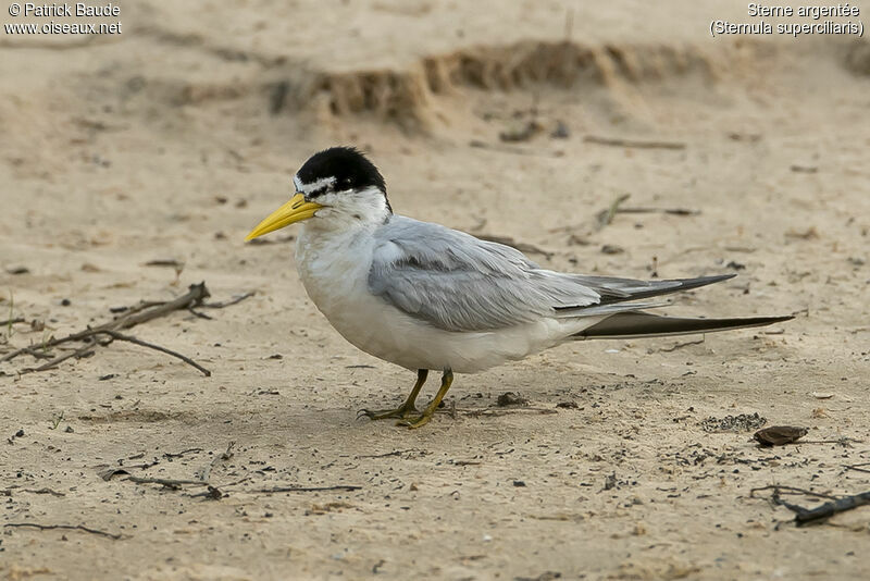
M 120 343 L 49 371 L 0 363 L 0 576 L 870 577 L 870 509 L 796 528 L 750 495 L 870 490 L 846 468 L 870 462 L 866 40 L 712 39 L 710 20 L 749 20 L 712 1 L 179 4 L 122 3 L 113 37 L 0 41 L 0 321 L 24 319 L 0 357 L 200 281 L 212 300 L 256 292 L 129 331 L 210 378 Z M 371 153 L 400 213 L 554 269 L 737 272 L 672 311 L 797 318 L 566 345 L 458 376 L 422 430 L 357 421 L 412 374 L 316 312 L 291 231 L 243 243 L 333 144 Z M 625 194 L 693 212 L 598 227 Z M 499 407 L 507 392 L 527 404 Z M 760 448 L 705 423 L 756 412 L 825 443 Z M 220 499 L 129 480 L 203 471 Z M 264 492 L 281 486 L 355 489 Z

